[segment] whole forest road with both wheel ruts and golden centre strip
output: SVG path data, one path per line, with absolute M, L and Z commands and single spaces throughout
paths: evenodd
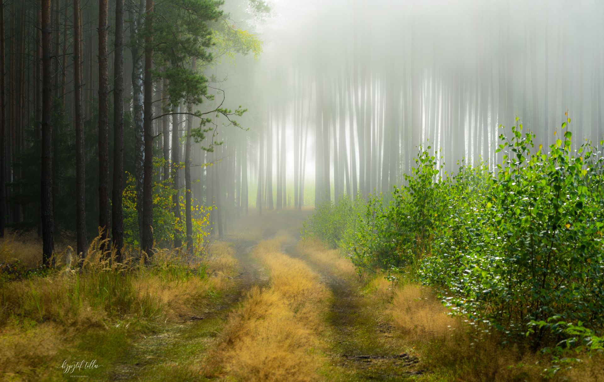
M 336 251 L 300 239 L 308 213 L 237 222 L 220 245 L 237 261 L 202 316 L 149 335 L 111 380 L 421 380 L 383 300 Z M 211 271 L 211 270 L 210 270 Z

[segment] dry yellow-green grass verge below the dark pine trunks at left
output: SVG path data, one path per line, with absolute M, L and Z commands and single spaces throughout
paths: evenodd
M 110 264 L 101 259 L 99 244 L 92 242 L 81 274 L 63 268 L 45 277 L 0 279 L 0 380 L 13 378 L 11 373 L 31 374 L 35 380 L 36 368 L 56 362 L 89 329 L 103 331 L 116 321 L 189 320 L 207 308 L 211 290 L 233 284 L 238 267 L 224 243 L 208 253 L 207 276 L 199 273 L 204 259 L 172 250 L 159 250 L 151 268 L 138 267 L 131 259 Z M 1 253 L 18 252 L 20 259 L 27 259 L 30 252 L 24 248 L 35 250 L 36 244 L 5 241 Z

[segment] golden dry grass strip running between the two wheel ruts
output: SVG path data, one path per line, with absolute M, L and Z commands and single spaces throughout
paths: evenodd
M 231 314 L 208 374 L 245 381 L 313 381 L 321 365 L 321 314 L 329 293 L 303 261 L 279 248 L 287 238 L 261 242 L 257 257 L 270 272 L 270 286 L 252 288 Z

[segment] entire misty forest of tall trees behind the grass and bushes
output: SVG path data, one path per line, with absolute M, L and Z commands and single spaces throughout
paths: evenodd
M 573 149 L 603 138 L 598 2 L 185 4 L 2 2 L 0 215 L 45 259 L 53 234 L 191 248 L 251 208 L 389 194 L 420 146 L 496 170 L 500 134 L 548 147 L 567 111 Z

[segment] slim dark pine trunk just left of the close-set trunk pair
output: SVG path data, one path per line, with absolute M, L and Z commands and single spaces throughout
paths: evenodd
M 76 128 L 76 236 L 77 254 L 82 256 L 88 246 L 86 240 L 86 161 L 84 129 L 82 125 L 82 19 L 81 0 L 74 0 L 74 121 Z

